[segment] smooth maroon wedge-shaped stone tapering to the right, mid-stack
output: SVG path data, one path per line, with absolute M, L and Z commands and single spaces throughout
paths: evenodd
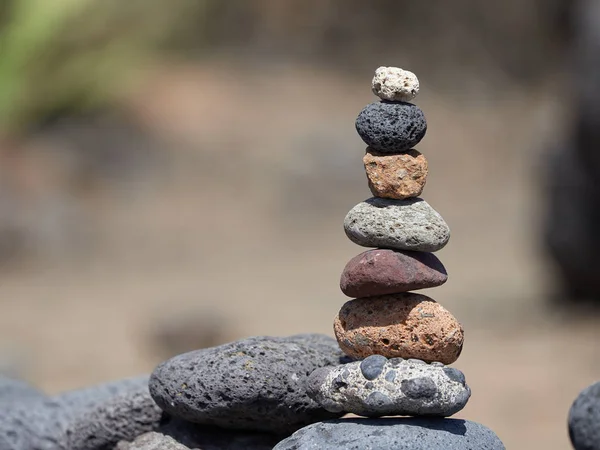
M 340 288 L 348 297 L 373 297 L 440 286 L 447 279 L 433 253 L 375 249 L 346 264 Z

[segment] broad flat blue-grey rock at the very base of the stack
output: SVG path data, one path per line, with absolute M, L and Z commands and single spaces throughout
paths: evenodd
M 273 450 L 505 450 L 477 422 L 438 418 L 339 419 L 309 425 Z

